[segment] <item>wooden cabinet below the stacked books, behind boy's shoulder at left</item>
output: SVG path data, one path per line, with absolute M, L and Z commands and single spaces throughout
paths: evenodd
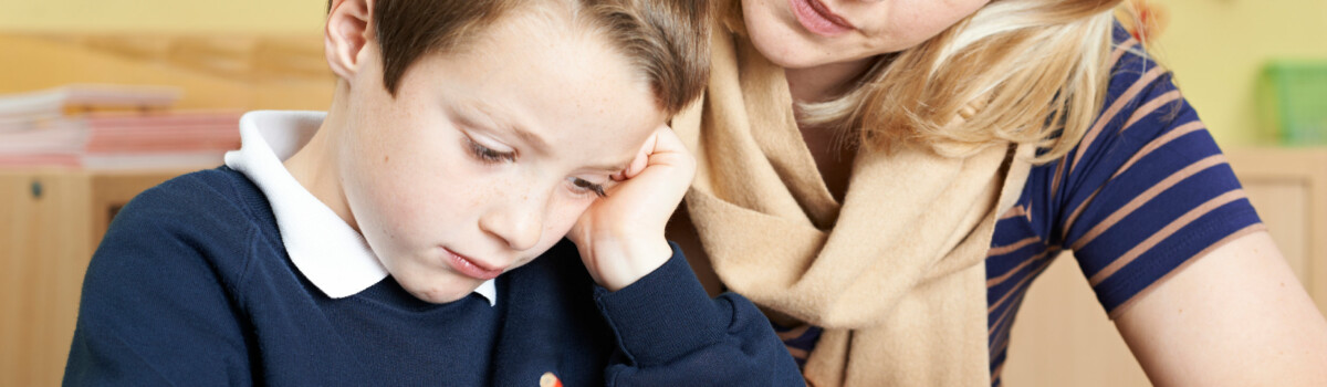
M 129 199 L 183 171 L 0 171 L 0 386 L 60 386 L 88 260 Z

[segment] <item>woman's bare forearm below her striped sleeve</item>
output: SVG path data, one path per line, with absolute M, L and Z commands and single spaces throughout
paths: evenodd
M 1156 386 L 1327 386 L 1327 321 L 1266 232 L 1157 284 L 1116 327 Z

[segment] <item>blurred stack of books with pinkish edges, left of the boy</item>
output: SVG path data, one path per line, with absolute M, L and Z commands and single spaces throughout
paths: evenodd
M 0 167 L 196 168 L 239 148 L 239 111 L 171 106 L 174 87 L 70 85 L 0 95 Z

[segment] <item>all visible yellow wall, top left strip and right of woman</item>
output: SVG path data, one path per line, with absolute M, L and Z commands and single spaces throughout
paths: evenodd
M 1327 0 L 1151 1 L 1170 13 L 1151 49 L 1174 69 L 1223 146 L 1258 140 L 1255 85 L 1267 60 L 1327 58 Z M 324 7 L 324 0 L 0 0 L 0 33 L 317 34 Z

